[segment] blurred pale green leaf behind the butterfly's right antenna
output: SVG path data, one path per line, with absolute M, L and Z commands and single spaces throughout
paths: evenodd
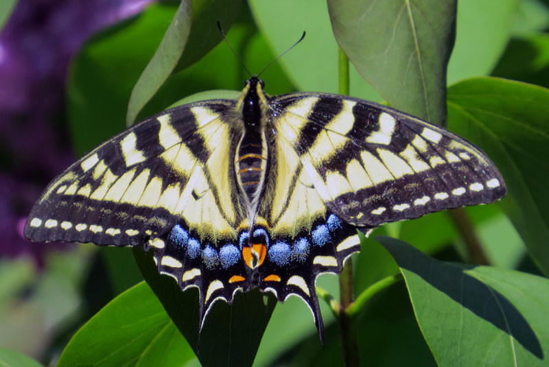
M 316 0 L 250 0 L 249 3 L 261 34 L 274 50 L 274 56 L 288 49 L 303 31 L 307 32 L 299 45 L 278 60 L 294 85 L 301 91 L 338 93 L 338 45 L 326 3 Z M 283 27 L 281 19 L 284 19 Z M 268 75 L 270 69 L 264 74 Z M 351 68 L 351 95 L 382 101 L 354 68 Z

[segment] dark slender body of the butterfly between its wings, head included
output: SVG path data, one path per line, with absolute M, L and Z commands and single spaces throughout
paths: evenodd
M 242 136 L 235 150 L 235 176 L 244 202 L 248 219 L 253 224 L 259 198 L 264 189 L 268 171 L 268 145 L 265 134 L 264 108 L 266 101 L 263 82 L 252 77 L 240 97 L 237 108 L 242 114 Z

